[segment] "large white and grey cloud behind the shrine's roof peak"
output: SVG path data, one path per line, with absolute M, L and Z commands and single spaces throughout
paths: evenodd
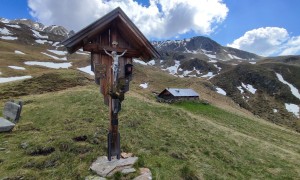
M 194 31 L 210 34 L 225 20 L 222 0 L 29 0 L 30 14 L 46 25 L 78 31 L 116 7 L 121 7 L 148 38 L 169 38 Z

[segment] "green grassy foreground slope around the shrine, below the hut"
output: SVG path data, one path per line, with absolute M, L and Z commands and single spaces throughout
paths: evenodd
M 126 94 L 121 149 L 154 179 L 297 179 L 299 134 L 199 103 Z M 83 179 L 106 155 L 108 108 L 95 86 L 24 96 L 22 118 L 0 134 L 0 179 Z M 0 107 L 2 108 L 2 107 Z M 76 141 L 75 139 L 82 139 Z M 128 177 L 121 177 L 126 179 Z

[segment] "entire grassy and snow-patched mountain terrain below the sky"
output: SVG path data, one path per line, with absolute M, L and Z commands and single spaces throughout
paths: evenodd
M 0 134 L 0 179 L 92 175 L 91 163 L 106 155 L 108 108 L 89 74 L 89 54 L 68 55 L 59 45 L 65 37 L 9 25 L 0 22 L 0 81 L 24 80 L 0 83 L 0 109 L 8 99 L 25 104 L 15 129 Z M 121 149 L 140 158 L 136 167 L 149 167 L 155 179 L 300 178 L 299 119 L 285 107 L 299 99 L 276 75 L 300 89 L 297 57 L 251 64 L 208 52 L 167 53 L 134 61 L 122 103 Z M 193 88 L 201 101 L 156 102 L 166 87 Z

